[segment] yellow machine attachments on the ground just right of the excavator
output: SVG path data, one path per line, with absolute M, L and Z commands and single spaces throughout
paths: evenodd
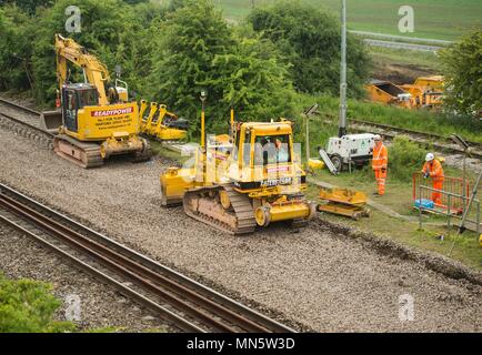
M 143 134 L 161 142 L 175 142 L 188 136 L 189 123 L 169 112 L 165 104 L 141 101 L 139 111 L 141 118 L 140 130 Z

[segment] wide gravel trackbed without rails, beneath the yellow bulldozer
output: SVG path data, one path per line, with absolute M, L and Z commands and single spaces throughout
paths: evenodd
M 482 331 L 481 274 L 431 254 L 350 237 L 317 222 L 301 233 L 281 225 L 248 237 L 218 233 L 187 217 L 180 207 L 160 207 L 160 160 L 140 165 L 114 161 L 84 171 L 0 130 L 0 181 L 309 328 Z M 435 268 L 458 277 L 470 275 L 472 282 Z M 399 320 L 403 294 L 414 297 L 414 322 Z

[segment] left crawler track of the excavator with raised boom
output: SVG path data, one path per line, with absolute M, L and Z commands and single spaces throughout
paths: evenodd
M 59 134 L 53 139 L 53 151 L 83 169 L 103 165 L 100 144 L 79 142 L 67 134 Z

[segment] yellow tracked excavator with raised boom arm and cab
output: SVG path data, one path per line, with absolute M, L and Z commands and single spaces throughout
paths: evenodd
M 117 79 L 112 84 L 106 65 L 72 39 L 56 34 L 56 54 L 60 111 L 41 116 L 43 129 L 56 133 L 56 153 L 86 169 L 111 155 L 149 160 L 149 142 L 139 136 L 138 104 L 129 102 L 127 83 Z M 84 82 L 69 82 L 68 62 L 82 69 Z

